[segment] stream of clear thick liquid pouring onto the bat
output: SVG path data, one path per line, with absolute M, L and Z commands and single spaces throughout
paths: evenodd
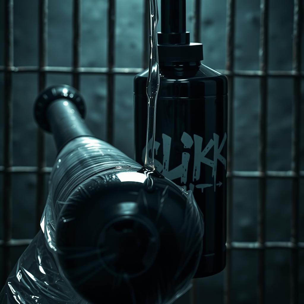
M 157 0 L 149 0 L 149 21 L 150 21 L 150 62 L 149 76 L 147 81 L 147 138 L 146 155 L 144 169 L 145 171 L 155 171 L 154 167 L 154 140 L 155 140 L 155 119 L 156 119 L 156 101 L 159 89 L 159 64 L 157 52 L 157 22 L 158 9 Z

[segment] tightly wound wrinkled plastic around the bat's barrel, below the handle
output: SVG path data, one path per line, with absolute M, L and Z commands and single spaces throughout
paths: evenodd
M 75 138 L 60 151 L 50 176 L 49 196 L 42 218 L 44 231 L 47 232 L 45 237 L 52 250 L 57 250 L 55 245 L 57 217 L 62 205 L 72 203 L 67 202 L 71 192 L 90 177 L 97 178 L 97 174 L 105 174 L 115 169 L 122 171 L 134 168 L 134 164 L 136 163 L 120 150 L 92 137 Z M 140 169 L 140 166 L 136 165 Z M 79 190 L 85 191 L 83 188 Z

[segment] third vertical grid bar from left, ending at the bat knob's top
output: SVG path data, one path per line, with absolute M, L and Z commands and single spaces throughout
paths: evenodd
M 81 0 L 73 1 L 73 87 L 79 90 L 79 73 L 76 69 L 80 63 L 81 36 Z

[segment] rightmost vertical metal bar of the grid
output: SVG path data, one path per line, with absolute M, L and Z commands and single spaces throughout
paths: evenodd
M 300 200 L 300 100 L 301 100 L 301 29 L 302 29 L 302 1 L 294 0 L 293 14 L 293 90 L 292 104 L 292 164 L 291 169 L 295 175 L 292 180 L 292 218 L 290 241 L 293 244 L 290 260 L 290 304 L 299 302 L 299 200 Z

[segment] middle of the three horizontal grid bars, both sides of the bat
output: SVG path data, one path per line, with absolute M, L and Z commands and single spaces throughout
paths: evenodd
M 28 166 L 14 166 L 5 168 L 0 166 L 0 173 L 51 173 L 52 167 L 44 167 L 39 169 L 38 167 Z M 266 171 L 265 174 L 260 171 L 232 171 L 227 173 L 228 178 L 304 178 L 304 171 L 300 171 L 300 174 L 296 174 L 294 171 Z

